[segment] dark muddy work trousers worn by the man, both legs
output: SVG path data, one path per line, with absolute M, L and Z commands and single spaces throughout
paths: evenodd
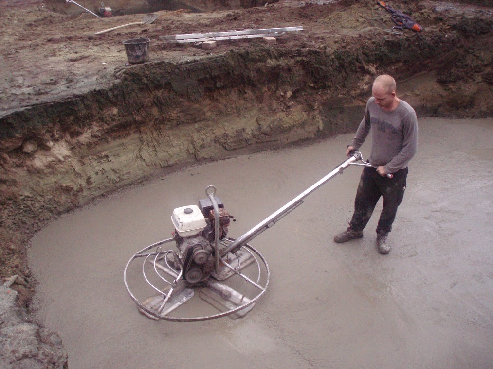
M 397 214 L 397 207 L 402 202 L 406 189 L 408 168 L 405 167 L 393 174 L 393 178 L 382 177 L 376 168 L 365 167 L 359 179 L 356 198 L 354 199 L 354 213 L 351 227 L 362 231 L 370 220 L 380 196 L 384 198 L 384 207 L 378 221 L 377 233 L 390 232 L 392 223 Z

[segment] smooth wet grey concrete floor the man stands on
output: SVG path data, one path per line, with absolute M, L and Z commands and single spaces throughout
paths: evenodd
M 174 208 L 213 184 L 239 237 L 345 160 L 352 134 L 340 135 L 194 166 L 60 217 L 29 248 L 37 318 L 71 369 L 491 368 L 493 120 L 419 124 L 387 256 L 374 246 L 381 203 L 363 239 L 332 241 L 352 215 L 350 167 L 251 242 L 271 282 L 246 317 L 154 321 L 125 289 L 125 264 L 170 237 Z

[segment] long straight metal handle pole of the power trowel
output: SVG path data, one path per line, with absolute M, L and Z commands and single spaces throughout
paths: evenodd
M 306 189 L 304 192 L 300 193 L 298 196 L 296 196 L 294 199 L 292 199 L 290 202 L 288 202 L 286 205 L 284 205 L 281 209 L 279 209 L 277 212 L 274 214 L 268 216 L 265 218 L 263 221 L 258 223 L 255 227 L 250 229 L 248 232 L 246 232 L 243 236 L 235 240 L 230 246 L 223 248 L 221 250 L 221 254 L 225 255 L 228 252 L 236 252 L 237 250 L 240 249 L 240 247 L 245 246 L 248 242 L 250 242 L 252 239 L 257 237 L 260 233 L 265 231 L 266 229 L 272 227 L 276 222 L 281 219 L 284 215 L 288 214 L 301 204 L 303 204 L 303 199 L 307 197 L 309 194 L 314 192 L 318 187 L 322 186 L 326 182 L 328 182 L 330 179 L 338 175 L 339 173 L 342 173 L 344 169 L 346 169 L 351 163 L 361 160 L 361 153 L 359 151 L 354 151 L 352 155 L 345 160 L 343 163 L 338 165 L 337 167 L 334 168 L 332 172 L 327 174 L 325 177 L 323 177 L 320 181 L 318 181 L 316 184 L 312 185 L 310 188 Z

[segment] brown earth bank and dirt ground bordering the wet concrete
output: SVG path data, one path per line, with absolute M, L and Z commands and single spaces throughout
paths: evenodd
M 152 24 L 95 35 L 142 15 L 0 1 L 0 275 L 18 276 L 10 288 L 19 314 L 35 287 L 25 245 L 54 217 L 183 165 L 348 132 L 378 74 L 396 78 L 419 116 L 492 116 L 488 1 L 394 2 L 424 27 L 402 34 L 373 1 L 221 3 L 238 8 L 157 11 Z M 203 49 L 158 38 L 290 26 L 304 30 L 274 45 L 259 38 Z M 136 37 L 151 39 L 150 61 L 129 65 L 122 41 Z M 39 352 L 12 362 L 37 355 L 51 365 Z

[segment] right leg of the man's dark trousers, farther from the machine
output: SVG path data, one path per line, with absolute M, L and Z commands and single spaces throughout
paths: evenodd
M 394 173 L 392 179 L 381 176 L 377 179 L 377 185 L 384 197 L 384 207 L 378 221 L 377 233 L 380 231 L 388 233 L 392 230 L 392 223 L 397 214 L 397 207 L 404 197 L 408 172 L 409 170 L 406 167 Z

